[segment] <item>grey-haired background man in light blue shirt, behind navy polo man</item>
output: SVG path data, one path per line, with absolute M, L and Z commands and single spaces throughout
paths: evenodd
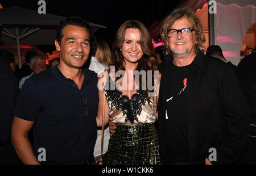
M 30 69 L 32 70 L 32 73 L 26 77 L 23 77 L 19 81 L 19 89 L 22 88 L 24 85 L 24 82 L 30 78 L 33 74 L 38 74 L 42 72 L 43 70 L 46 70 L 46 58 L 43 55 L 36 54 L 31 57 L 30 60 Z

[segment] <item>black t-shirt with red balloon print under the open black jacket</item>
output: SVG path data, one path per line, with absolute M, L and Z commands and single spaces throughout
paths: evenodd
M 168 98 L 166 100 L 166 153 L 167 162 L 188 161 L 188 111 L 187 77 L 191 73 L 189 65 L 175 66 L 169 77 Z

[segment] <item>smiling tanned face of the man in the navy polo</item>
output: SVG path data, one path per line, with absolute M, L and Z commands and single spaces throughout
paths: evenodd
M 63 28 L 61 45 L 55 40 L 56 50 L 60 51 L 60 66 L 81 68 L 90 53 L 90 36 L 84 27 L 68 25 Z

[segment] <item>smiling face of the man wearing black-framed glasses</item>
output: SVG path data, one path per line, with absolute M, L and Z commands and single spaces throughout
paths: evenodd
M 186 27 L 192 27 L 189 20 L 185 17 L 178 19 L 170 29 L 181 30 Z M 177 33 L 176 37 L 168 38 L 168 45 L 175 56 L 191 55 L 195 51 L 196 36 L 195 32 L 192 32 L 191 36 L 184 37 L 181 32 Z

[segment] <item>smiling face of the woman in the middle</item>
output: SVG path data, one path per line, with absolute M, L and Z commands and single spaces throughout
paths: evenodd
M 137 63 L 143 56 L 141 49 L 141 35 L 138 28 L 127 28 L 125 42 L 122 45 L 122 55 L 125 62 Z

